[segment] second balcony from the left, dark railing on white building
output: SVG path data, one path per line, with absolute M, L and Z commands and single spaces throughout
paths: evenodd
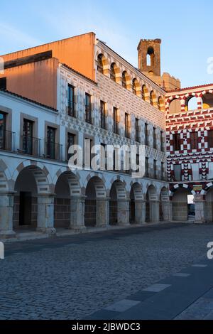
M 29 156 L 40 156 L 40 139 L 23 135 L 21 136 L 21 153 L 28 154 Z

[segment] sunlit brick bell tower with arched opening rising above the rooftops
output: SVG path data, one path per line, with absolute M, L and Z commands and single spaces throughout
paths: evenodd
M 141 39 L 138 44 L 138 69 L 147 75 L 160 76 L 161 40 Z

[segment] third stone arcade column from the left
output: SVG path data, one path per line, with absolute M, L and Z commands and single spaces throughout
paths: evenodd
M 72 196 L 70 199 L 70 229 L 84 230 L 85 197 Z

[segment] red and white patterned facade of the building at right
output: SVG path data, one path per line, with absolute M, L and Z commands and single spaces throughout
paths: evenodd
M 188 108 L 194 97 L 197 107 Z M 172 104 L 175 101 L 175 109 Z M 168 92 L 165 97 L 168 181 L 170 197 L 175 190 L 187 188 L 202 200 L 212 188 L 213 148 L 209 147 L 209 131 L 213 130 L 213 84 L 184 88 Z M 192 132 L 197 132 L 197 148 L 192 149 Z M 178 151 L 174 147 L 175 134 L 179 134 Z M 180 165 L 180 179 L 175 180 L 174 165 Z M 193 177 L 192 166 L 199 166 L 198 177 Z M 209 170 L 211 166 L 211 171 Z

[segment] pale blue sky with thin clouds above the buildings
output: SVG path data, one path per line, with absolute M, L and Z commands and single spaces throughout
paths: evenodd
M 1 1 L 0 54 L 94 31 L 137 66 L 140 38 L 161 38 L 162 72 L 182 87 L 213 82 L 212 0 Z

